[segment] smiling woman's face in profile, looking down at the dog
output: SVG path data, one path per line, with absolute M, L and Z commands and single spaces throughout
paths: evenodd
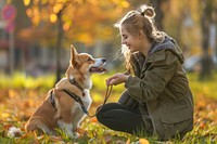
M 122 44 L 125 44 L 131 53 L 140 51 L 142 40 L 139 35 L 130 34 L 124 26 L 119 28 L 119 32 L 122 36 Z

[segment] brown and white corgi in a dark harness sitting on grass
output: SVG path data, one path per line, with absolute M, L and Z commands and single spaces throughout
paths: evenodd
M 71 48 L 71 62 L 66 77 L 61 79 L 55 88 L 50 90 L 47 97 L 27 121 L 26 131 L 42 130 L 54 134 L 60 128 L 68 136 L 76 136 L 74 131 L 85 117 L 84 108 L 89 109 L 92 87 L 90 79 L 94 73 L 103 73 L 105 58 L 93 58 L 87 53 L 77 53 Z

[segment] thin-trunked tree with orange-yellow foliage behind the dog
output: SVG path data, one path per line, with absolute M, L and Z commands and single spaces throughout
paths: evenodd
M 56 81 L 61 78 L 60 49 L 63 40 L 72 42 L 73 39 L 90 45 L 97 38 L 111 37 L 112 27 L 106 24 L 114 24 L 114 19 L 129 6 L 126 0 L 24 0 L 24 4 L 34 26 L 56 30 Z

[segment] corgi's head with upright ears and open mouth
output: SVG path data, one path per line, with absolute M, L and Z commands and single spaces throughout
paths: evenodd
M 75 77 L 88 78 L 92 74 L 101 74 L 106 69 L 103 67 L 106 63 L 105 58 L 93 58 L 87 53 L 77 53 L 76 49 L 71 45 L 69 67 L 66 71 L 68 79 Z

